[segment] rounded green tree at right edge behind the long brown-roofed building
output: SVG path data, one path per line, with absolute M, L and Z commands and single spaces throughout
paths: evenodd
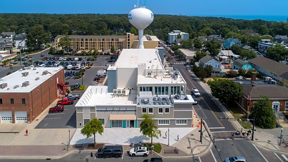
M 283 60 L 288 54 L 287 49 L 281 44 L 275 44 L 272 47 L 267 48 L 267 57 L 270 59 L 279 59 Z

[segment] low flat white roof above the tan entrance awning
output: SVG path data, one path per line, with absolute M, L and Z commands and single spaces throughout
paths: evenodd
M 117 60 L 118 61 L 118 60 Z M 76 107 L 85 106 L 112 106 L 112 105 L 127 105 L 136 106 L 137 92 L 127 96 L 113 96 L 113 93 L 108 93 L 107 86 L 89 86 L 81 96 Z

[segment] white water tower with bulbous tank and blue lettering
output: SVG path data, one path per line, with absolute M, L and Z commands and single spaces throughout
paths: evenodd
M 141 3 L 141 2 L 140 2 Z M 143 45 L 143 31 L 149 26 L 154 19 L 152 11 L 146 9 L 145 6 L 136 6 L 135 9 L 131 10 L 128 14 L 129 22 L 138 29 L 139 43 L 138 48 L 144 48 Z

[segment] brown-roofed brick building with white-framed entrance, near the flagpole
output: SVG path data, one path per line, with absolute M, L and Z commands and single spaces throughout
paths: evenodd
M 251 100 L 248 106 L 248 96 L 250 92 Z M 253 86 L 244 87 L 242 96 L 237 104 L 246 111 L 253 109 L 254 103 L 261 98 L 262 95 L 267 96 L 271 101 L 271 109 L 275 112 L 288 110 L 288 88 L 284 86 Z

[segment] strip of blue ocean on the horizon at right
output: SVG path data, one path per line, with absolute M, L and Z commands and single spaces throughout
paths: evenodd
M 283 16 L 270 16 L 270 15 L 187 15 L 187 16 L 199 16 L 199 17 L 226 17 L 226 18 L 233 18 L 233 19 L 244 19 L 244 20 L 266 20 L 266 21 L 284 21 L 286 22 L 288 15 Z

